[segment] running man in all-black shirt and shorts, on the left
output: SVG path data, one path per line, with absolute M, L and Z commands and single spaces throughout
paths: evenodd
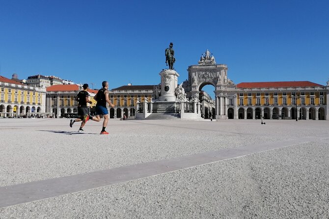
M 80 122 L 81 126 L 80 129 L 78 130 L 78 132 L 84 132 L 83 131 L 83 126 L 85 125 L 85 123 L 91 119 L 94 120 L 96 122 L 101 121 L 100 119 L 97 119 L 96 117 L 89 117 L 89 108 L 87 107 L 87 103 L 91 104 L 92 102 L 88 99 L 89 93 L 88 93 L 88 89 L 89 89 L 89 85 L 87 83 L 83 84 L 83 90 L 80 91 L 76 97 L 76 101 L 78 101 L 78 115 L 79 118 L 73 120 L 71 119 L 70 121 L 70 127 L 72 128 L 73 124 L 75 122 Z

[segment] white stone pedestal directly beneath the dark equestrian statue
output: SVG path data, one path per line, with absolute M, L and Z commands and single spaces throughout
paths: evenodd
M 177 87 L 179 74 L 175 70 L 165 69 L 159 73 L 161 76 L 160 101 L 175 102 L 175 89 Z

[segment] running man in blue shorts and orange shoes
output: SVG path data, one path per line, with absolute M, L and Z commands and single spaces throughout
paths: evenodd
M 105 131 L 106 126 L 109 122 L 109 111 L 106 107 L 106 103 L 109 103 L 111 107 L 114 107 L 114 105 L 110 102 L 109 99 L 109 82 L 104 81 L 102 82 L 102 89 L 98 91 L 98 93 L 94 96 L 94 100 L 97 101 L 96 104 L 96 118 L 100 121 L 101 117 L 100 115 L 103 115 L 104 121 L 103 121 L 103 129 L 101 131 L 101 135 L 108 135 L 109 133 Z

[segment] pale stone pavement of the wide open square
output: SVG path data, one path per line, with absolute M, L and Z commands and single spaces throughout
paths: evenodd
M 329 217 L 328 121 L 68 123 L 0 119 L 0 218 Z

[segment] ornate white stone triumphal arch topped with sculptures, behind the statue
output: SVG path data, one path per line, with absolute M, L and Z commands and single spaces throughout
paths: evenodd
M 188 68 L 188 80 L 183 87 L 188 97 L 199 98 L 205 85 L 213 85 L 215 92 L 216 119 L 237 118 L 236 84 L 227 77 L 227 65 L 216 64 L 215 57 L 207 50 L 201 55 L 197 65 Z M 234 108 L 236 115 L 227 115 L 227 108 Z

